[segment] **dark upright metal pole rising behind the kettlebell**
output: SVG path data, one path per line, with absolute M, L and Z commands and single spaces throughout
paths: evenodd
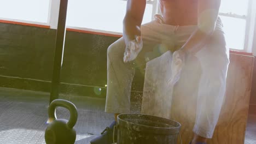
M 68 0 L 60 0 L 59 21 L 54 53 L 53 79 L 51 81 L 50 103 L 51 101 L 59 98 L 60 75 L 66 35 L 67 5 Z

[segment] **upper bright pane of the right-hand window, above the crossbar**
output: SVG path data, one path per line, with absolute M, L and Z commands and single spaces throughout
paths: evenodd
M 248 0 L 222 0 L 220 13 L 247 15 Z

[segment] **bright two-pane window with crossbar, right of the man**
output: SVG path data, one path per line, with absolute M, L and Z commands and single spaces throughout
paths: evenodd
M 250 0 L 223 0 L 219 15 L 222 19 L 226 43 L 230 49 L 244 50 L 249 21 Z

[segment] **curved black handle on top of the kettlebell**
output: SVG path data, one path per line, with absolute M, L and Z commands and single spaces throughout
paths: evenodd
M 77 123 L 77 117 L 78 117 L 78 113 L 77 113 L 77 107 L 75 107 L 75 105 L 73 103 L 71 103 L 70 101 L 67 100 L 63 100 L 63 99 L 55 99 L 54 101 L 51 102 L 49 108 L 48 108 L 48 115 L 49 118 L 51 119 L 56 119 L 56 107 L 60 106 L 60 107 L 65 107 L 66 109 L 69 110 L 70 112 L 70 118 L 69 121 L 67 122 L 67 127 L 72 129 L 75 125 L 75 123 Z

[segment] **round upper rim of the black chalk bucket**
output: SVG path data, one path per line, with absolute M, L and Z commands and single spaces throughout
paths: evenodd
M 153 127 L 153 126 L 148 126 L 148 125 L 143 125 L 143 124 L 137 124 L 137 123 L 133 123 L 133 122 L 129 122 L 129 121 L 125 121 L 124 119 L 121 119 L 120 116 L 146 116 L 146 117 L 152 117 L 152 118 L 160 118 L 162 120 L 165 120 L 165 121 L 170 121 L 170 122 L 173 122 L 175 125 L 173 125 L 173 127 Z M 131 114 L 131 113 L 122 113 L 122 114 L 119 114 L 118 115 L 118 121 L 122 122 L 122 123 L 126 123 L 126 122 L 129 122 L 131 124 L 134 124 L 134 125 L 138 125 L 140 127 L 144 127 L 144 128 L 147 128 L 147 129 L 158 129 L 158 130 L 163 130 L 163 131 L 172 131 L 173 133 L 176 133 L 178 134 L 179 133 L 179 130 L 181 129 L 181 123 L 177 122 L 177 121 L 174 121 L 174 120 L 171 120 L 171 119 L 167 119 L 167 118 L 162 118 L 162 117 L 157 117 L 157 116 L 150 116 L 150 115 L 144 115 L 144 114 Z M 177 125 L 177 126 L 176 126 Z

